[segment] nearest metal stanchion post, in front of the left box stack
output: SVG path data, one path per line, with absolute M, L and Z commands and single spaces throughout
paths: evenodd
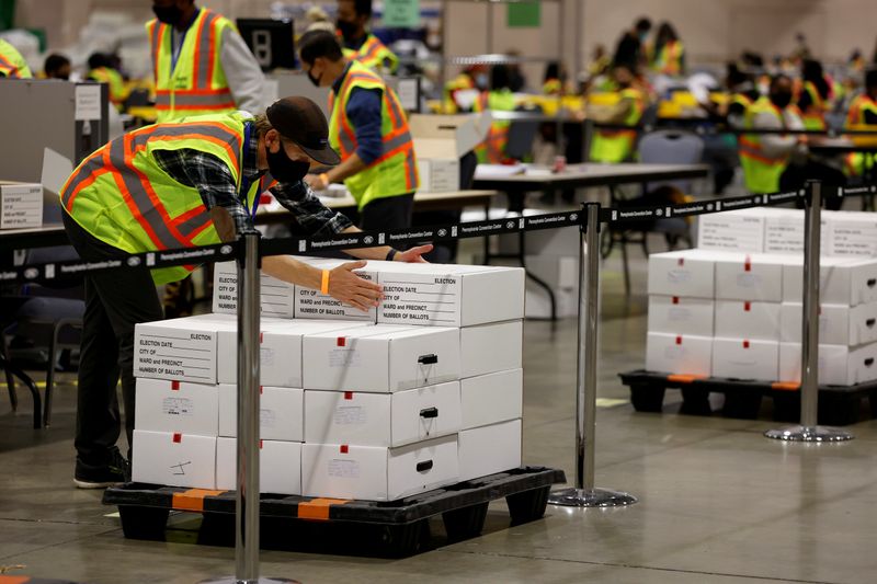
M 259 233 L 241 239 L 238 256 L 238 482 L 235 508 L 235 576 L 203 584 L 294 583 L 259 577 Z

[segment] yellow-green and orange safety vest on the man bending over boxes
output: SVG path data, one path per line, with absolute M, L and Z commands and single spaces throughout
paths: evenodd
M 181 149 L 210 153 L 228 165 L 240 191 L 244 125 L 251 119 L 237 112 L 194 116 L 119 136 L 77 167 L 61 188 L 61 206 L 86 231 L 128 253 L 219 243 L 197 188 L 171 179 L 152 154 Z M 262 182 L 249 185 L 248 208 Z M 156 284 L 175 282 L 194 268 L 153 270 L 152 278 Z

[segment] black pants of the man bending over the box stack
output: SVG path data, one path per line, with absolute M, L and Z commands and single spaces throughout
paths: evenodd
M 87 262 L 125 256 L 91 236 L 64 214 L 67 237 Z M 128 447 L 134 433 L 134 325 L 163 318 L 149 271 L 119 270 L 86 276 L 86 316 L 79 360 L 76 440 L 77 467 L 105 468 L 122 430 L 116 385 L 122 399 Z M 130 457 L 130 450 L 128 456 Z

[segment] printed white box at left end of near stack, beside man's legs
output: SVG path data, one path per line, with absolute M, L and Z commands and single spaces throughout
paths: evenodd
M 143 322 L 134 328 L 134 376 L 216 383 L 219 331 L 236 331 L 230 314 Z M 237 358 L 237 353 L 223 358 Z

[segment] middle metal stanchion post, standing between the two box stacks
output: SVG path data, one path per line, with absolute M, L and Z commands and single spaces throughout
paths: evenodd
M 576 485 L 555 491 L 551 505 L 615 507 L 636 503 L 619 491 L 594 486 L 597 327 L 600 324 L 600 204 L 584 205 L 579 236 L 579 337 L 576 375 Z

